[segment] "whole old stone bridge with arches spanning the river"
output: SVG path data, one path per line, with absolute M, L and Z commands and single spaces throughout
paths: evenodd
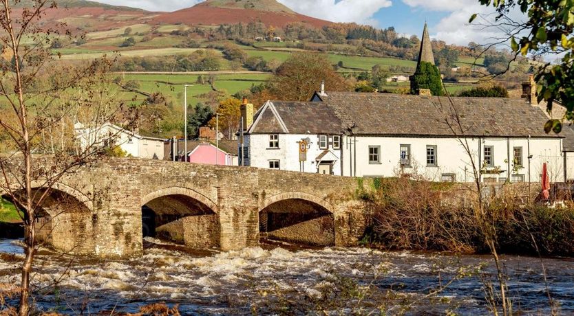
M 325 174 L 109 159 L 56 183 L 36 232 L 59 251 L 101 258 L 139 256 L 144 236 L 222 250 L 260 238 L 350 246 L 365 228 L 354 194 L 363 185 L 370 190 Z

